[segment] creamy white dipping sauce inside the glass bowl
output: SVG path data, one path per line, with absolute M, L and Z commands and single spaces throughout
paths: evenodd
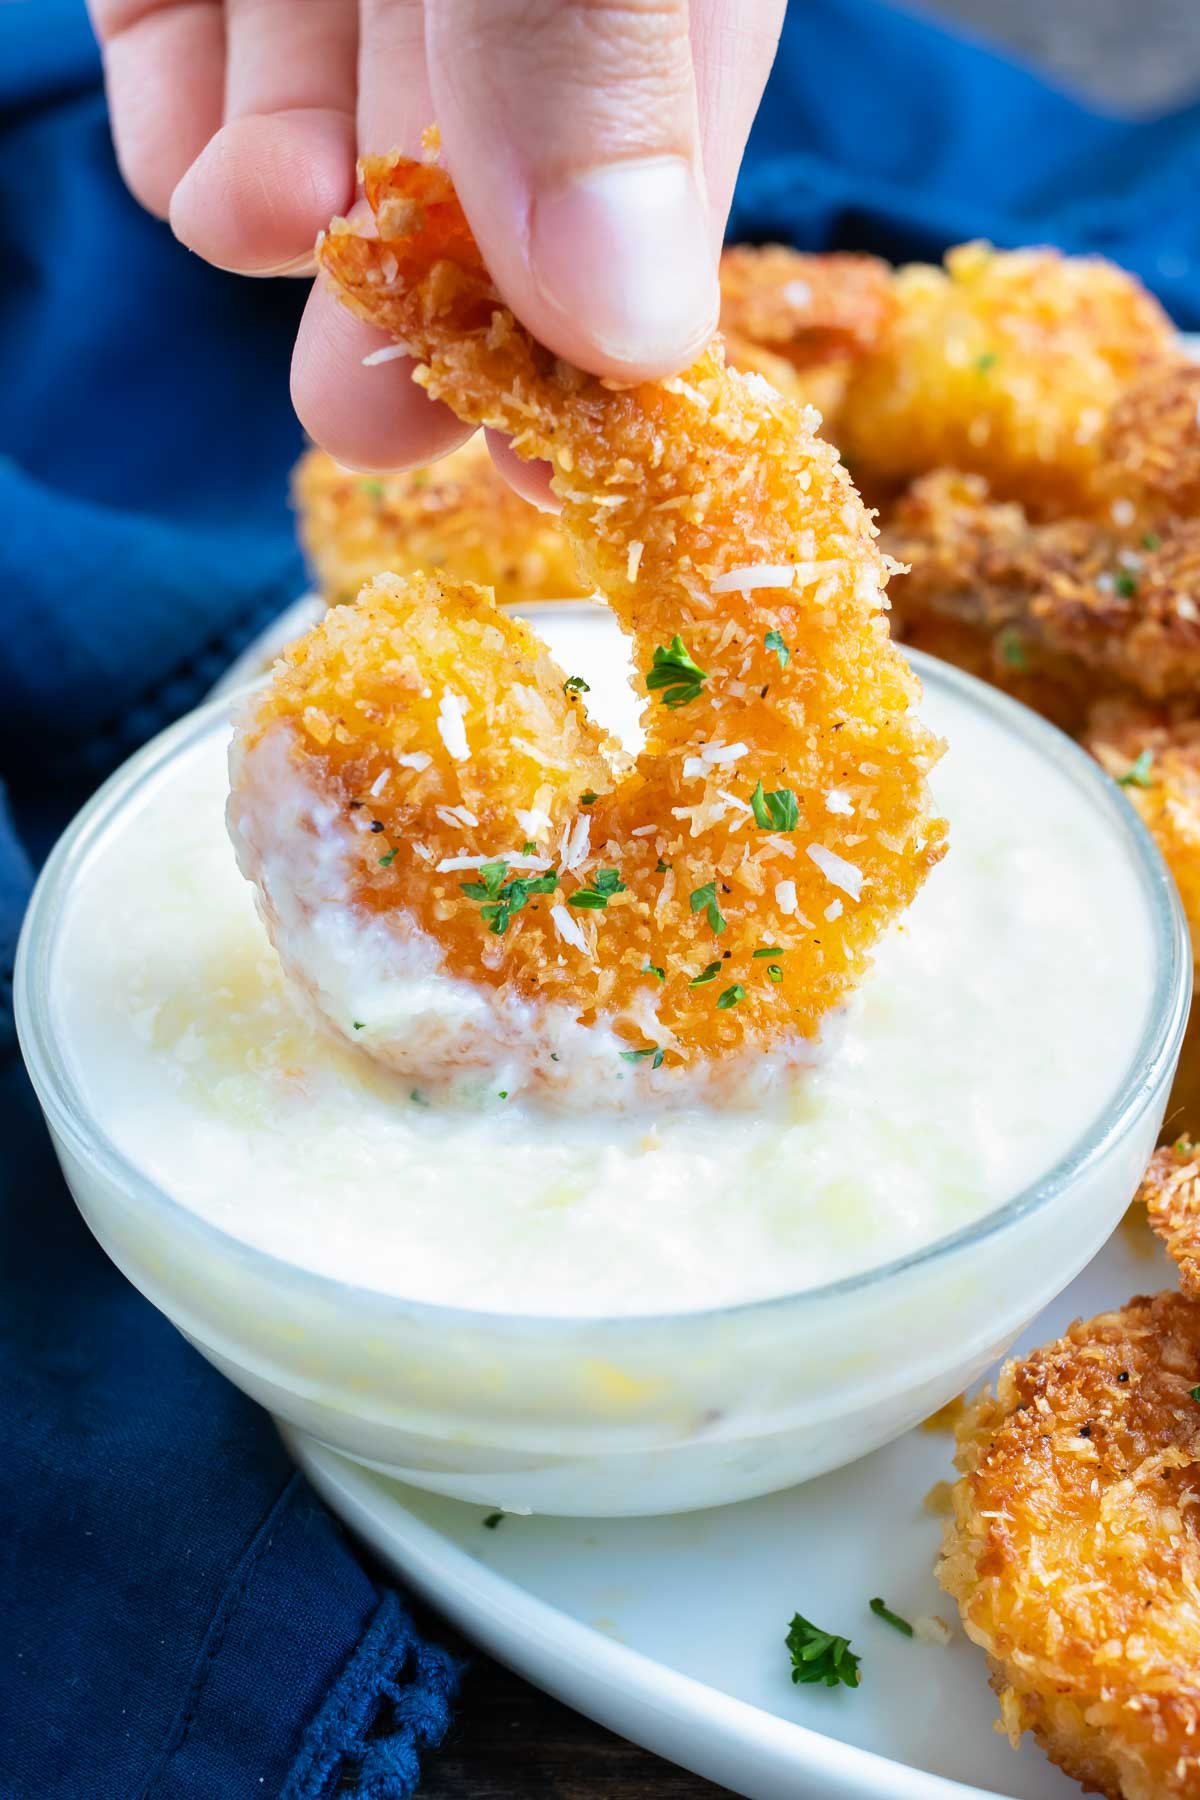
M 606 614 L 533 610 L 628 738 Z M 275 1256 L 414 1300 L 673 1312 L 889 1262 L 1043 1175 L 1115 1093 L 1151 1001 L 1151 925 L 1112 821 L 952 691 L 950 851 L 763 1112 L 545 1114 L 410 1098 L 284 986 L 225 835 L 228 731 L 144 783 L 79 873 L 54 1024 L 115 1145 Z M 630 1069 L 637 1080 L 637 1069 Z

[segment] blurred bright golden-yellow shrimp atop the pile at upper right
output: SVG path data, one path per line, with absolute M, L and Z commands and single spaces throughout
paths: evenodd
M 898 270 L 894 299 L 838 416 L 847 461 L 876 484 L 957 468 L 1040 515 L 1087 509 L 1114 405 L 1177 358 L 1162 308 L 1101 257 L 966 243 L 945 268 Z

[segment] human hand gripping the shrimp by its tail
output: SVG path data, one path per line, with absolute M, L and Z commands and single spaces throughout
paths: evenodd
M 207 261 L 309 274 L 317 232 L 354 202 L 356 157 L 416 155 L 437 119 L 488 266 L 543 344 L 633 380 L 711 337 L 784 0 L 90 5 L 121 169 Z M 443 455 L 468 428 L 407 362 L 363 367 L 381 342 L 317 283 L 291 367 L 300 421 L 360 468 Z

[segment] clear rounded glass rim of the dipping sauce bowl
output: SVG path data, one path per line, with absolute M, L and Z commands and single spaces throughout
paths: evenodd
M 540 605 L 538 612 L 545 614 L 549 605 L 552 603 Z M 515 1330 L 561 1332 L 581 1327 L 608 1328 L 619 1334 L 639 1328 L 646 1330 L 649 1327 L 680 1328 L 684 1323 L 694 1327 L 702 1321 L 736 1316 L 765 1318 L 772 1310 L 783 1309 L 808 1307 L 815 1312 L 831 1301 L 883 1287 L 907 1273 L 941 1260 L 948 1262 L 959 1251 L 1011 1229 L 1029 1213 L 1049 1206 L 1076 1179 L 1101 1163 L 1108 1150 L 1137 1125 L 1146 1109 L 1162 1093 L 1178 1057 L 1187 1022 L 1193 983 L 1191 940 L 1175 882 L 1157 844 L 1121 787 L 1087 751 L 1031 707 L 968 675 L 964 670 L 941 662 L 937 657 L 907 644 L 898 648 L 909 657 L 923 684 L 950 689 L 970 706 L 982 707 L 995 722 L 1007 731 L 1015 731 L 1016 736 L 1047 756 L 1085 790 L 1085 796 L 1112 824 L 1115 841 L 1124 841 L 1132 851 L 1151 918 L 1153 992 L 1146 1024 L 1123 1080 L 1087 1130 L 1079 1134 L 1070 1148 L 1043 1175 L 1027 1183 L 982 1217 L 918 1249 L 905 1251 L 901 1256 L 892 1256 L 856 1274 L 838 1276 L 817 1287 L 792 1289 L 783 1294 L 714 1307 L 689 1307 L 666 1312 L 563 1314 L 493 1312 L 416 1300 L 403 1294 L 390 1294 L 385 1289 L 344 1282 L 264 1251 L 205 1219 L 182 1201 L 176 1201 L 137 1166 L 86 1107 L 85 1096 L 58 1048 L 52 1030 L 50 976 L 54 950 L 72 877 L 86 864 L 110 821 L 133 803 L 176 754 L 203 738 L 218 718 L 228 718 L 237 695 L 250 691 L 255 684 L 246 684 L 232 693 L 225 688 L 218 689 L 210 700 L 158 733 L 158 736 L 151 738 L 128 758 L 72 819 L 38 877 L 18 940 L 13 988 L 18 1042 L 52 1134 L 61 1138 L 85 1165 L 95 1166 L 128 1201 L 164 1213 L 167 1219 L 178 1217 L 180 1229 L 187 1235 L 209 1238 L 218 1253 L 234 1256 L 243 1265 L 261 1265 L 261 1273 L 277 1283 L 291 1289 L 308 1289 L 315 1296 L 331 1301 L 349 1301 L 360 1310 L 383 1310 L 389 1316 L 403 1314 L 405 1318 L 426 1319 L 437 1325 L 482 1327 L 497 1334 Z

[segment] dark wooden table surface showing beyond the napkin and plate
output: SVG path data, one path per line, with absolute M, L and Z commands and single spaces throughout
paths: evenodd
M 1123 113 L 1200 90 L 1195 0 L 927 0 L 923 11 L 1007 43 Z M 1196 200 L 1200 205 L 1200 198 Z M 426 1764 L 421 1800 L 714 1800 L 727 1793 L 635 1750 L 525 1681 L 471 1656 L 459 1723 Z

